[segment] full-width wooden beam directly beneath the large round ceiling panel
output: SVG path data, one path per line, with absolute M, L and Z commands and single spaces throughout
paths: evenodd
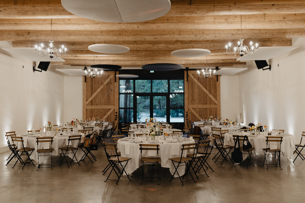
M 0 12 L 1 14 L 1 12 Z M 242 29 L 303 29 L 304 19 L 271 19 L 271 20 L 242 20 Z M 52 30 L 93 30 L 95 32 L 115 33 L 113 30 L 125 30 L 133 32 L 145 30 L 160 30 L 160 32 L 171 32 L 170 30 L 203 29 L 203 30 L 240 30 L 240 20 L 224 21 L 176 21 L 176 22 L 139 22 L 139 23 L 105 23 L 105 22 L 61 22 L 52 21 Z M 0 22 L 1 30 L 51 30 L 51 23 L 43 22 Z M 111 31 L 105 31 L 111 30 Z M 147 33 L 148 31 L 146 31 Z M 118 32 L 120 33 L 120 32 Z M 164 33 L 166 34 L 166 33 Z M 171 33 L 172 34 L 172 33 Z

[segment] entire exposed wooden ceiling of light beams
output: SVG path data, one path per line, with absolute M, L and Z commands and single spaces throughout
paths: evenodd
M 237 66 L 224 50 L 228 42 L 242 38 L 261 47 L 291 46 L 292 37 L 303 37 L 305 1 L 299 0 L 172 0 L 170 12 L 140 23 L 104 23 L 80 18 L 66 11 L 60 0 L 0 1 L 0 40 L 13 47 L 34 47 L 52 40 L 68 48 L 65 62 L 58 65 L 114 64 L 141 67 L 149 63 L 177 63 L 185 67 Z M 100 54 L 91 44 L 120 44 L 124 54 Z M 207 57 L 178 58 L 171 51 L 209 49 Z

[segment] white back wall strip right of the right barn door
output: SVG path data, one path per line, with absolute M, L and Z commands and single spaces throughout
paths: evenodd
M 220 77 L 221 118 L 236 121 L 236 114 L 242 113 L 239 76 L 224 75 Z

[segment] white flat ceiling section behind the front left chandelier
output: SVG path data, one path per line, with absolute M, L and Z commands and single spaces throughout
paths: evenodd
M 44 57 L 38 56 L 36 54 L 35 48 L 34 47 L 15 47 L 15 48 L 2 48 L 5 51 L 8 51 L 13 54 L 20 55 L 24 58 L 30 59 L 31 61 L 65 61 L 62 58 L 57 58 L 54 56 L 52 59 L 49 58 L 48 54 L 45 55 Z

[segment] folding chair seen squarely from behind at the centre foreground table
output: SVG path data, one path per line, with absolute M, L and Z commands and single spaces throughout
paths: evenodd
M 142 181 L 141 185 L 144 182 L 157 182 L 157 185 L 159 185 L 159 180 L 161 180 L 161 167 L 159 166 L 159 163 L 161 163 L 161 158 L 159 157 L 159 151 L 160 151 L 160 145 L 152 145 L 152 144 L 139 144 L 140 145 L 140 151 L 141 151 L 141 163 L 142 163 Z M 143 157 L 142 151 L 156 151 L 157 157 Z M 156 165 L 155 165 L 156 164 Z M 151 166 L 151 167 L 157 167 L 157 177 L 145 177 L 144 176 L 144 166 Z M 146 180 L 144 180 L 146 178 Z M 147 180 L 156 178 L 157 181 L 154 180 Z

